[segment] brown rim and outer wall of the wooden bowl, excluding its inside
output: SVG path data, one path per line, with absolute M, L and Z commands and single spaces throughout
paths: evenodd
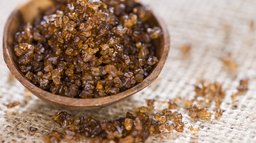
M 32 0 L 33 1 L 33 0 Z M 32 2 L 29 1 L 28 3 Z M 26 3 L 26 4 L 28 4 Z M 142 6 L 145 6 L 145 4 L 141 3 Z M 15 8 L 15 10 L 11 13 L 4 29 L 4 35 L 3 35 L 3 55 L 4 60 L 6 62 L 7 67 L 11 71 L 11 73 L 14 75 L 14 77 L 29 91 L 31 91 L 35 96 L 37 96 L 39 99 L 43 100 L 44 102 L 50 103 L 53 106 L 68 109 L 68 110 L 89 110 L 94 108 L 101 108 L 113 103 L 116 103 L 119 100 L 125 99 L 143 88 L 150 85 L 160 74 L 160 71 L 162 70 L 164 63 L 167 59 L 168 52 L 170 49 L 170 38 L 169 38 L 169 32 L 167 30 L 166 25 L 162 21 L 162 19 L 155 14 L 155 12 L 152 12 L 153 17 L 156 19 L 157 23 L 159 24 L 160 28 L 163 32 L 163 52 L 162 55 L 160 55 L 160 59 L 156 67 L 151 71 L 151 73 L 139 84 L 135 85 L 134 87 L 131 87 L 125 91 L 122 91 L 120 93 L 117 93 L 115 95 L 110 95 L 106 97 L 100 97 L 100 98 L 92 98 L 92 99 L 80 99 L 80 98 L 70 98 L 70 97 L 64 97 L 57 94 L 53 94 L 51 92 L 45 91 L 35 85 L 33 85 L 30 81 L 28 81 L 23 73 L 15 67 L 14 62 L 12 60 L 10 51 L 8 49 L 8 32 L 10 30 L 10 24 L 13 20 L 14 16 L 18 14 L 19 8 L 22 8 L 22 6 L 18 6 Z M 11 43 L 12 44 L 12 43 Z

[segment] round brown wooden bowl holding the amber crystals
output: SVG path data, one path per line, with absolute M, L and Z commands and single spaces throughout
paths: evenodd
M 34 17 L 39 13 L 39 9 L 44 10 L 52 5 L 50 0 L 32 0 L 27 4 L 16 8 L 10 18 L 8 19 L 5 29 L 4 29 L 4 39 L 3 39 L 3 53 L 4 60 L 7 64 L 7 67 L 14 75 L 15 78 L 29 91 L 31 91 L 35 96 L 40 98 L 46 103 L 49 103 L 53 106 L 68 109 L 68 110 L 89 110 L 94 108 L 101 108 L 113 103 L 116 103 L 120 100 L 123 100 L 143 88 L 151 84 L 160 74 L 160 71 L 163 68 L 164 62 L 167 58 L 168 51 L 170 48 L 169 34 L 164 23 L 153 13 L 153 17 L 149 21 L 151 26 L 159 26 L 163 31 L 163 36 L 157 40 L 154 40 L 156 47 L 156 56 L 159 58 L 159 63 L 153 68 L 153 71 L 139 84 L 136 86 L 120 92 L 115 95 L 94 98 L 94 99 L 77 99 L 69 98 L 60 95 L 56 95 L 40 89 L 33 85 L 27 78 L 25 74 L 22 73 L 17 64 L 18 57 L 15 55 L 13 48 L 14 35 L 18 32 L 18 27 L 21 24 L 33 21 Z

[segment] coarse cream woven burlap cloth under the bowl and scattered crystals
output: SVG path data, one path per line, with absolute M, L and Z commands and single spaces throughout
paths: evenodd
M 13 8 L 23 0 L 0 1 L 0 39 Z M 256 23 L 255 0 L 143 0 L 158 13 L 168 26 L 171 48 L 159 78 L 132 97 L 101 109 L 67 111 L 74 116 L 90 115 L 109 120 L 124 117 L 127 111 L 145 105 L 145 99 L 168 101 L 175 97 L 194 97 L 194 85 L 199 79 L 210 79 L 223 84 L 226 95 L 221 109 L 223 115 L 214 118 L 214 103 L 209 106 L 210 119 L 192 119 L 187 109 L 178 107 L 185 123 L 182 133 L 173 131 L 150 135 L 147 143 L 158 142 L 256 142 L 256 31 L 250 23 Z M 184 43 L 191 43 L 190 54 L 181 52 Z M 231 53 L 237 70 L 232 70 L 220 60 Z M 51 116 L 63 109 L 55 108 L 34 95 L 28 96 L 25 88 L 12 76 L 0 50 L 0 141 L 43 142 L 52 130 L 63 129 L 51 121 Z M 232 89 L 243 76 L 250 79 L 249 90 L 236 100 L 231 99 Z M 6 104 L 21 104 L 7 109 Z M 155 107 L 156 112 L 162 107 Z M 198 133 L 190 131 L 190 125 L 200 126 Z M 29 127 L 37 128 L 35 135 Z M 62 142 L 65 142 L 64 140 Z M 83 138 L 81 142 L 86 142 Z

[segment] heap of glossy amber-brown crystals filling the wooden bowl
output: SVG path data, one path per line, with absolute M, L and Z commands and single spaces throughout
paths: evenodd
M 54 0 L 16 33 L 19 69 L 53 94 L 85 99 L 117 94 L 141 82 L 159 62 L 152 40 L 163 33 L 149 26 L 151 17 L 134 0 Z

